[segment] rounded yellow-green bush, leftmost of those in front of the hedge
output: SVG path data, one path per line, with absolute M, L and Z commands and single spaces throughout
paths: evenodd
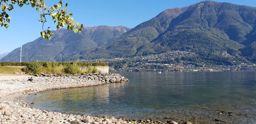
M 25 68 L 26 73 L 33 73 L 33 74 L 41 74 L 43 72 L 43 65 L 41 62 L 32 61 L 26 65 Z

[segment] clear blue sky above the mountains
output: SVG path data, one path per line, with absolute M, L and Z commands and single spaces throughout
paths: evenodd
M 46 0 L 52 6 L 59 0 Z M 62 0 L 68 3 L 67 10 L 73 13 L 75 21 L 86 27 L 122 25 L 129 28 L 157 16 L 160 12 L 175 7 L 189 6 L 203 0 Z M 256 7 L 256 0 L 213 0 L 238 5 Z M 8 12 L 12 17 L 9 28 L 0 27 L 0 54 L 11 52 L 27 42 L 40 37 L 42 25 L 38 22 L 39 13 L 35 8 L 15 6 Z M 48 19 L 45 25 L 56 30 Z

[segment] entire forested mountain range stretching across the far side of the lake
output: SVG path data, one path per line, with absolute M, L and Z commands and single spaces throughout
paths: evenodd
M 232 64 L 231 60 L 218 55 L 223 51 L 239 59 L 256 62 L 255 7 L 203 1 L 167 9 L 135 28 L 119 29 L 122 30 L 108 30 L 111 35 L 95 35 L 88 29 L 81 34 L 57 30 L 49 41 L 38 38 L 24 45 L 30 50 L 23 52 L 23 60 L 73 61 L 179 50 L 194 52 L 200 59 L 211 62 Z M 118 33 L 115 35 L 114 32 Z M 1 61 L 15 61 L 18 54 L 19 50 L 15 49 Z

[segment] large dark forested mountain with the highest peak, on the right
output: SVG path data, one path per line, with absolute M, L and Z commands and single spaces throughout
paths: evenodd
M 255 7 L 203 1 L 167 9 L 113 42 L 58 60 L 145 56 L 180 50 L 215 62 L 220 60 L 216 54 L 219 51 L 256 62 L 255 37 Z

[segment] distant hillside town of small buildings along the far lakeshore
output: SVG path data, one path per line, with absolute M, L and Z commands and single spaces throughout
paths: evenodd
M 163 54 L 135 56 L 130 58 L 81 60 L 82 62 L 108 62 L 110 71 L 256 71 L 256 64 L 241 62 L 227 52 L 216 52 L 218 56 L 231 58 L 233 65 L 218 65 L 197 59 L 198 55 L 189 51 L 169 51 Z M 236 61 L 235 61 L 236 60 Z

